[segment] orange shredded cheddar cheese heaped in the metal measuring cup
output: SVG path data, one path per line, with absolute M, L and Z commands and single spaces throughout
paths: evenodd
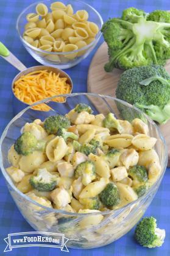
M 66 77 L 48 70 L 38 70 L 21 76 L 16 80 L 13 93 L 16 98 L 24 103 L 31 105 L 41 99 L 46 99 L 59 94 L 71 92 L 71 85 L 68 84 Z M 55 98 L 53 101 L 64 102 L 65 98 Z M 33 107 L 35 110 L 49 111 L 50 107 L 46 104 L 38 104 Z

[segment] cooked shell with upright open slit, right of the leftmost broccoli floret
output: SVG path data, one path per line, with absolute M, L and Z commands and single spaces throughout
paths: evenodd
M 46 146 L 46 155 L 51 162 L 61 160 L 68 150 L 68 146 L 62 137 L 55 137 Z

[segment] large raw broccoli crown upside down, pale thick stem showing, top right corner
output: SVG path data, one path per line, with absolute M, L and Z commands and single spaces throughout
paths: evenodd
M 109 55 L 105 71 L 114 67 L 165 65 L 170 58 L 169 31 L 168 12 L 157 10 L 148 14 L 133 7 L 124 10 L 121 18 L 110 19 L 102 27 Z

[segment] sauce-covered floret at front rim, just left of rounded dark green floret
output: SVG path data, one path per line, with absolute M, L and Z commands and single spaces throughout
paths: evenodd
M 80 204 L 83 204 L 85 209 L 90 209 L 90 210 L 99 210 L 101 207 L 101 201 L 99 200 L 99 197 L 90 197 L 90 198 L 82 198 L 79 199 Z

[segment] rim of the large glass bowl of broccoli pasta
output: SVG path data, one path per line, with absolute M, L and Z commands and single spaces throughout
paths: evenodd
M 2 163 L 2 143 L 3 143 L 3 140 L 4 140 L 5 136 L 7 135 L 9 127 L 13 123 L 13 121 L 15 121 L 16 119 L 21 117 L 23 115 L 23 113 L 25 113 L 29 108 L 31 108 L 31 107 L 33 107 L 33 106 L 35 106 L 37 104 L 45 103 L 45 102 L 48 103 L 49 101 L 51 101 L 51 99 L 58 98 L 58 97 L 69 98 L 69 97 L 81 96 L 81 95 L 93 96 L 95 98 L 112 99 L 113 101 L 118 101 L 121 104 L 126 105 L 127 107 L 131 107 L 131 108 L 135 109 L 136 111 L 138 111 L 139 113 L 144 114 L 140 109 L 134 107 L 133 105 L 131 105 L 131 104 L 125 102 L 125 101 L 122 101 L 121 99 L 117 99 L 117 98 L 114 98 L 112 96 L 107 96 L 107 95 L 104 95 L 104 94 L 96 94 L 96 93 L 71 93 L 71 94 L 60 94 L 60 95 L 57 95 L 57 96 L 52 96 L 51 98 L 43 99 L 41 101 L 35 102 L 34 104 L 29 105 L 28 107 L 24 108 L 21 112 L 19 112 L 16 116 L 14 116 L 12 118 L 12 120 L 9 122 L 9 124 L 7 124 L 7 126 L 5 127 L 4 132 L 2 132 L 1 139 L 0 139 L 0 168 L 1 168 L 2 174 L 5 177 L 5 180 L 7 181 L 7 183 L 9 183 L 9 185 L 13 188 L 13 190 L 17 194 L 19 194 L 19 196 L 23 197 L 24 199 L 26 199 L 27 201 L 31 202 L 32 204 L 37 205 L 38 207 L 44 208 L 44 210 L 48 210 L 48 212 L 61 213 L 63 215 L 69 215 L 69 216 L 107 215 L 108 213 L 119 214 L 119 212 L 122 212 L 123 210 L 132 207 L 133 205 L 138 203 L 138 201 L 141 201 L 142 199 L 144 199 L 144 197 L 146 197 L 155 188 L 157 188 L 158 185 L 160 185 L 161 179 L 163 179 L 163 176 L 164 176 L 165 170 L 166 170 L 166 166 L 167 166 L 167 163 L 168 163 L 168 147 L 166 145 L 165 138 L 161 134 L 159 127 L 146 114 L 144 114 L 145 118 L 147 119 L 147 121 L 149 123 L 151 123 L 155 127 L 155 129 L 157 130 L 158 135 L 160 137 L 160 140 L 161 140 L 161 142 L 164 145 L 164 149 L 165 149 L 164 157 L 165 157 L 165 159 L 164 159 L 164 163 L 163 163 L 163 168 L 162 168 L 162 171 L 161 171 L 161 175 L 158 177 L 158 179 L 155 181 L 155 183 L 151 186 L 151 188 L 149 188 L 149 190 L 147 190 L 147 192 L 143 196 L 138 197 L 138 199 L 136 199 L 135 201 L 132 201 L 129 204 L 124 205 L 121 208 L 118 208 L 118 209 L 115 209 L 115 210 L 107 210 L 107 211 L 104 211 L 104 212 L 99 211 L 99 212 L 91 212 L 91 213 L 70 213 L 70 212 L 67 212 L 65 210 L 54 209 L 54 208 L 50 208 L 50 207 L 46 207 L 44 205 L 38 204 L 34 200 L 30 199 L 29 196 L 27 196 L 26 194 L 22 193 L 21 191 L 18 190 L 18 188 L 15 187 L 14 183 L 12 182 L 12 179 L 10 179 L 9 174 L 7 174 L 7 172 L 5 171 L 4 165 Z M 41 212 L 43 213 L 43 210 L 41 210 Z

